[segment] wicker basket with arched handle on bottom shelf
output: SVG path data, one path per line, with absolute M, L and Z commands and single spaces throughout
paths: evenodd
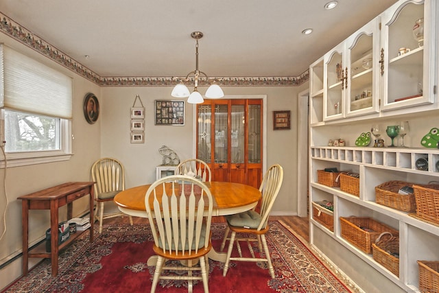
M 399 237 L 383 232 L 372 244 L 373 259 L 399 277 Z

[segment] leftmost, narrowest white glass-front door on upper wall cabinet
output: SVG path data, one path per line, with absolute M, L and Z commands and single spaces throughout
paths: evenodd
M 343 117 L 343 95 L 345 89 L 345 69 L 343 67 L 342 46 L 327 54 L 325 72 L 327 78 L 324 93 L 324 120 Z M 347 69 L 346 69 L 347 71 Z

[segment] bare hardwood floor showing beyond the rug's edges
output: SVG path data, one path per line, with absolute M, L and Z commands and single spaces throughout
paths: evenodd
M 270 216 L 270 220 L 276 221 L 276 220 L 282 220 L 290 226 L 300 237 L 305 239 L 305 241 L 309 242 L 309 220 L 308 218 L 300 218 L 293 215 L 285 215 L 285 216 Z M 129 219 L 127 216 L 124 216 L 123 218 L 115 217 L 104 220 L 104 224 L 117 224 L 117 223 L 129 223 Z M 139 217 L 133 217 L 132 222 L 134 224 L 144 224 L 147 223 L 146 218 L 139 218 Z M 212 222 L 219 223 L 219 222 L 226 222 L 224 220 L 224 217 L 212 217 Z M 97 225 L 98 222 L 95 223 Z M 97 226 L 95 226 L 97 228 Z

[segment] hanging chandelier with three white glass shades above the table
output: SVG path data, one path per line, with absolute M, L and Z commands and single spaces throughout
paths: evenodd
M 188 82 L 189 75 L 194 75 L 193 79 L 195 81 L 195 84 L 193 86 L 193 92 L 190 93 L 187 86 L 185 86 L 183 81 L 180 80 L 180 82 L 178 82 L 178 84 L 176 86 L 174 86 L 174 89 L 171 92 L 171 96 L 172 97 L 189 97 L 187 99 L 188 103 L 200 104 L 200 103 L 204 102 L 204 99 L 203 99 L 202 95 L 198 92 L 198 79 L 200 78 L 201 75 L 204 75 L 206 80 L 209 80 L 209 76 L 207 76 L 206 73 L 198 70 L 198 40 L 203 37 L 203 33 L 202 32 L 193 32 L 191 34 L 191 37 L 195 38 L 195 40 L 197 41 L 197 43 L 195 45 L 195 71 L 189 72 L 186 75 L 186 78 L 184 79 L 184 81 Z M 224 92 L 219 87 L 219 85 L 213 83 L 213 84 L 211 84 L 211 86 L 209 86 L 209 88 L 207 89 L 206 94 L 204 96 L 209 97 L 211 99 L 218 99 L 220 97 L 224 97 Z

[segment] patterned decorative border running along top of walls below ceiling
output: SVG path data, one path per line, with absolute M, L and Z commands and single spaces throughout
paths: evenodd
M 19 25 L 5 14 L 0 12 L 0 32 L 18 40 L 23 45 L 38 51 L 43 56 L 70 69 L 83 78 L 98 84 L 99 86 L 175 86 L 178 79 L 175 77 L 102 77 L 88 69 L 80 62 L 64 54 L 55 46 L 47 43 L 36 34 Z M 309 70 L 299 76 L 255 76 L 255 77 L 215 77 L 217 84 L 222 86 L 300 86 L 309 80 Z M 193 80 L 189 80 L 188 84 Z M 199 85 L 209 85 L 205 79 L 199 80 Z

